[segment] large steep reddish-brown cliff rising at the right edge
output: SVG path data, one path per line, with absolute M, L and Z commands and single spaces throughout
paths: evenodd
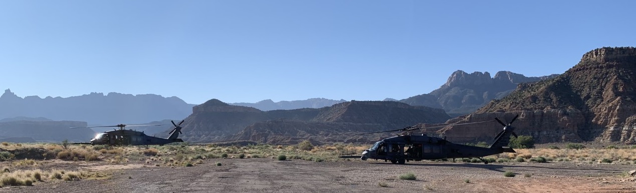
M 511 119 L 519 135 L 547 142 L 636 143 L 636 48 L 598 48 L 554 79 L 520 84 L 510 95 L 494 100 L 469 116 L 448 123 Z M 450 138 L 472 133 L 473 140 L 492 138 L 501 125 L 453 126 L 440 132 Z M 481 132 L 483 130 L 483 132 Z M 480 133 L 482 133 L 480 135 Z

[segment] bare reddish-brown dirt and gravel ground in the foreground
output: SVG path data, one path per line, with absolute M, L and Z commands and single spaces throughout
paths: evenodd
M 215 163 L 222 166 L 216 166 Z M 574 163 L 313 162 L 207 159 L 193 167 L 83 165 L 103 180 L 36 182 L 0 192 L 636 192 L 634 165 Z M 513 171 L 515 177 L 506 177 Z M 417 180 L 400 180 L 413 172 Z M 466 183 L 468 182 L 468 183 Z M 387 186 L 387 187 L 381 187 Z

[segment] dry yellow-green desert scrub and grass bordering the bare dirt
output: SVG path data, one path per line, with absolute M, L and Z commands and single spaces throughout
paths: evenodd
M 53 143 L 6 143 L 0 146 L 0 185 L 37 185 L 55 181 L 109 178 L 110 171 L 90 170 L 90 165 L 142 164 L 142 167 L 197 166 L 208 159 L 221 166 L 223 159 L 269 158 L 278 160 L 301 159 L 305 161 L 352 161 L 340 159 L 342 155 L 359 155 L 368 145 L 336 143 L 314 146 L 308 142 L 298 145 L 170 145 L 106 146 L 63 145 Z M 20 152 L 20 150 L 23 150 Z M 40 150 L 40 151 L 38 151 Z M 44 151 L 45 153 L 41 153 Z M 16 152 L 12 154 L 11 152 Z M 20 154 L 18 154 L 20 152 Z M 485 157 L 491 163 L 511 162 L 572 162 L 600 164 L 636 164 L 636 148 L 611 146 L 604 149 L 516 149 L 517 153 L 504 153 Z M 36 155 L 37 153 L 37 155 Z M 24 157 L 29 155 L 31 157 Z M 438 161 L 450 161 L 448 159 Z M 465 162 L 481 162 L 479 159 L 463 159 Z M 69 164 L 73 167 L 69 167 Z M 468 181 L 468 180 L 466 180 Z M 469 183 L 466 182 L 466 183 Z M 379 184 L 384 187 L 383 184 Z

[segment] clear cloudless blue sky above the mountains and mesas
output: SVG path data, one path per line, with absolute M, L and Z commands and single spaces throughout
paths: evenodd
M 636 1 L 0 1 L 0 88 L 188 103 L 403 99 L 455 70 L 636 46 Z

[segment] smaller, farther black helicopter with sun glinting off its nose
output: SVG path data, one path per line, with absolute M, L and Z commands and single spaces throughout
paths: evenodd
M 185 120 L 183 120 L 185 121 Z M 181 123 L 183 123 L 181 121 Z M 119 130 L 105 131 L 104 133 L 97 133 L 95 138 L 90 140 L 92 145 L 163 145 L 167 143 L 183 142 L 182 139 L 177 138 L 181 133 L 181 123 L 174 124 L 174 121 L 170 121 L 174 125 L 174 129 L 170 131 L 168 138 L 158 138 L 155 136 L 148 136 L 143 131 L 125 130 L 127 126 L 160 126 L 161 124 L 144 124 L 144 125 L 126 125 L 118 124 L 114 126 L 92 126 L 92 127 L 79 127 L 79 128 L 104 128 L 104 127 L 118 127 Z

